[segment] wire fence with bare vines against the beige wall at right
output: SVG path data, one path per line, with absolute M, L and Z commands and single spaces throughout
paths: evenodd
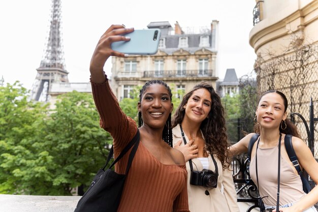
M 283 92 L 289 102 L 288 114 L 300 113 L 309 125 L 312 98 L 314 117 L 318 117 L 318 45 L 289 48 L 285 54 L 258 57 L 256 73 L 259 93 L 269 89 Z M 298 116 L 291 118 L 301 138 L 308 144 L 305 125 Z M 318 123 L 314 123 L 314 157 L 318 158 Z

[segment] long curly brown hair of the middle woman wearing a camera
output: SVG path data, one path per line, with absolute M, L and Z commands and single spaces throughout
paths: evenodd
M 225 122 L 225 112 L 221 104 L 220 97 L 215 93 L 213 86 L 207 82 L 203 81 L 195 85 L 190 92 L 184 95 L 179 107 L 174 113 L 172 128 L 176 127 L 178 124 L 181 125 L 184 118 L 185 109 L 188 99 L 193 95 L 195 90 L 207 89 L 211 95 L 211 110 L 208 114 L 208 118 L 204 119 L 200 125 L 200 129 L 205 138 L 205 145 L 208 152 L 217 155 L 217 158 L 222 163 L 223 170 L 229 168 L 230 158 L 228 154 L 228 136 L 226 134 L 227 127 Z

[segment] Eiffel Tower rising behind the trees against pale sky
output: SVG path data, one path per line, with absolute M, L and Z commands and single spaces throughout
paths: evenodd
M 52 0 L 49 39 L 31 91 L 31 100 L 47 102 L 53 82 L 69 82 L 61 39 L 61 1 Z

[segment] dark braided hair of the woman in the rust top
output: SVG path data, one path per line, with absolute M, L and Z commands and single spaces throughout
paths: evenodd
M 150 80 L 142 86 L 141 90 L 139 91 L 139 102 L 141 102 L 142 95 L 144 94 L 145 90 L 152 84 L 160 84 L 165 86 L 165 88 L 168 90 L 169 96 L 170 96 L 170 102 L 172 102 L 172 92 L 170 87 L 162 80 Z M 141 112 L 138 112 L 138 127 L 141 127 L 143 125 L 142 115 Z M 166 121 L 164 131 L 163 131 L 163 140 L 169 144 L 169 146 L 172 147 L 172 128 L 171 128 L 171 113 L 169 114 L 169 117 Z

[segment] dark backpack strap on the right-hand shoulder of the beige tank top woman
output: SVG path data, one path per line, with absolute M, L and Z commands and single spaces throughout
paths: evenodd
M 308 179 L 306 179 L 306 177 L 303 174 L 303 171 L 300 168 L 298 158 L 296 156 L 296 153 L 293 147 L 292 137 L 293 137 L 292 135 L 285 135 L 284 144 L 285 144 L 286 152 L 288 154 L 290 161 L 293 163 L 295 169 L 297 170 L 301 178 L 304 192 L 308 194 L 311 190 L 310 185 L 309 185 Z

